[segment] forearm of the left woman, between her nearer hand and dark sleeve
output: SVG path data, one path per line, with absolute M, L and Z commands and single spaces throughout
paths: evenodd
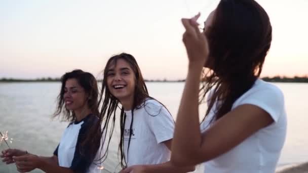
M 47 172 L 57 172 L 57 173 L 73 173 L 73 171 L 67 167 L 61 167 L 58 164 L 58 161 L 54 157 L 41 157 L 40 156 L 40 166 L 39 169 Z

